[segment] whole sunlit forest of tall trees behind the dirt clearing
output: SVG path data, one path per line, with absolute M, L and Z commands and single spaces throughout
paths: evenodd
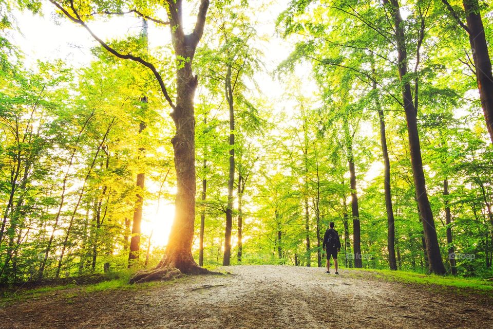
M 0 14 L 2 285 L 325 267 L 329 222 L 342 268 L 493 278 L 488 1 Z

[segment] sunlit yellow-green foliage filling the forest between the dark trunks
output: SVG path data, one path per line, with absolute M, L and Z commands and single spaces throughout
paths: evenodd
M 493 151 L 485 138 L 472 54 L 464 51 L 470 49 L 467 35 L 457 28 L 443 3 L 406 2 L 402 14 L 409 70 L 400 80 L 388 16 L 391 8 L 369 0 L 291 1 L 277 19 L 277 30 L 293 51 L 279 54 L 278 68 L 268 72 L 285 88 L 285 95 L 277 100 L 271 99 L 266 83 L 259 82 L 262 74 L 267 76 L 263 51 L 269 51 L 270 39 L 253 14 L 266 7 L 256 5 L 242 0 L 212 2 L 193 61 L 199 82 L 194 257 L 198 258 L 203 214 L 204 266 L 222 263 L 229 135 L 234 133 L 233 264 L 239 264 L 236 219 L 241 215 L 241 264 L 316 266 L 320 258 L 323 265 L 320 239 L 328 223 L 335 222 L 343 241 L 340 263 L 351 267 L 351 192 L 357 192 L 363 266 L 387 268 L 378 115 L 382 111 L 398 266 L 426 273 L 401 95 L 403 82 L 409 82 L 411 101 L 418 108 L 427 191 L 443 260 L 450 269 L 448 254 L 453 249 L 460 255 L 456 259 L 459 276 L 493 277 Z M 2 31 L 15 28 L 10 6 L 0 3 Z M 40 10 L 37 2 L 15 6 Z M 161 7 L 156 2 L 108 1 L 75 6 L 88 20 L 97 19 L 94 12 L 127 9 L 154 16 Z M 453 1 L 452 7 L 464 19 L 461 3 Z M 485 13 L 491 44 L 491 8 L 484 3 L 479 10 Z M 423 26 L 425 33 L 420 34 Z M 157 60 L 173 58 L 170 46 L 147 49 L 149 44 L 140 34 L 107 43 L 154 63 L 170 95 L 177 66 L 191 60 Z M 169 142 L 174 130 L 155 77 L 145 67 L 120 61 L 102 48 L 93 48 L 92 55 L 93 61 L 82 68 L 70 69 L 63 61 L 53 60 L 29 70 L 15 45 L 0 36 L 2 283 L 74 277 L 105 269 L 109 275 L 125 269 L 136 195 L 153 204 L 172 202 L 176 194 Z M 307 76 L 297 77 L 301 70 Z M 234 131 L 229 126 L 227 75 L 232 82 Z M 141 124 L 146 129 L 139 133 Z M 356 190 L 350 188 L 350 161 L 355 165 Z M 146 176 L 144 189 L 135 186 L 141 172 Z M 243 185 L 239 185 L 240 175 Z M 445 180 L 448 195 L 444 195 Z M 450 224 L 446 208 L 451 212 Z M 142 249 L 148 247 L 147 241 L 148 236 L 142 236 Z M 162 247 L 152 250 L 147 267 L 155 265 L 162 253 Z M 141 257 L 137 268 L 145 266 L 143 262 Z M 377 272 L 405 282 L 490 289 L 483 281 Z M 125 280 L 106 281 L 87 291 L 127 287 Z

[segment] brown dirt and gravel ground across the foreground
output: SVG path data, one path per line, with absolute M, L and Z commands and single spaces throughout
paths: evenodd
M 50 291 L 0 306 L 0 328 L 493 328 L 493 294 L 373 271 L 231 266 L 223 276 Z

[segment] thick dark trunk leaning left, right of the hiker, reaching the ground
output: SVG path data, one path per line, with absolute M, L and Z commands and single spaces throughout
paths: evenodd
M 383 0 L 383 2 L 384 5 L 389 5 L 389 0 Z M 438 244 L 437 231 L 435 230 L 433 213 L 431 211 L 428 194 L 426 192 L 423 161 L 421 158 L 420 137 L 418 133 L 418 122 L 416 119 L 416 108 L 412 102 L 411 85 L 409 83 L 409 79 L 407 79 L 407 52 L 404 22 L 401 17 L 399 0 L 390 0 L 390 4 L 392 7 L 391 15 L 394 20 L 396 48 L 399 53 L 397 58 L 397 62 L 399 64 L 399 77 L 403 83 L 402 96 L 407 121 L 409 148 L 411 153 L 411 168 L 414 178 L 416 199 L 418 199 L 418 204 L 421 211 L 421 219 L 429 258 L 429 269 L 432 273 L 444 275 L 446 272 L 445 266 L 443 265 L 442 256 L 440 254 L 440 246 Z

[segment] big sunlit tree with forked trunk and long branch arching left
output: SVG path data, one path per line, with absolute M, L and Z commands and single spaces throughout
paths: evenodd
M 175 153 L 175 170 L 177 175 L 177 195 L 175 199 L 176 215 L 172 232 L 169 236 L 166 253 L 155 269 L 137 273 L 131 282 L 143 282 L 159 278 L 170 278 L 178 273 L 207 273 L 199 267 L 192 257 L 192 241 L 195 222 L 195 127 L 194 127 L 194 95 L 197 87 L 197 76 L 193 75 L 192 62 L 197 45 L 202 38 L 205 18 L 209 6 L 208 0 L 201 0 L 197 22 L 192 33 L 186 34 L 183 26 L 182 0 L 167 1 L 165 9 L 168 14 L 166 24 L 170 33 L 176 58 L 176 103 L 168 94 L 164 81 L 157 68 L 143 57 L 123 53 L 103 40 L 88 27 L 82 17 L 93 8 L 98 11 L 108 11 L 110 8 L 101 8 L 96 4 L 74 4 L 70 0 L 68 5 L 50 0 L 68 19 L 83 26 L 98 41 L 103 48 L 120 59 L 136 61 L 155 75 L 161 87 L 162 94 L 169 106 L 173 109 L 170 116 L 176 125 L 176 134 L 172 139 Z M 122 8 L 118 8 L 122 9 Z M 131 8 L 132 9 L 132 8 Z M 122 13 L 123 10 L 119 10 Z M 134 9 L 137 15 L 143 15 Z M 145 15 L 147 16 L 147 15 Z M 144 17 L 146 18 L 146 17 Z M 162 23 L 162 21 L 160 21 Z

